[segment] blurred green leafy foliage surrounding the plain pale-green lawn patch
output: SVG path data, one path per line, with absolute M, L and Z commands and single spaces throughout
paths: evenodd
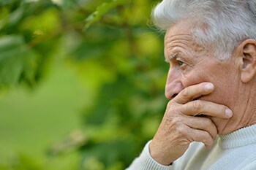
M 125 169 L 154 136 L 167 102 L 163 36 L 149 22 L 156 2 L 0 2 L 0 88 L 37 87 L 64 61 L 91 91 L 82 132 L 49 146 L 51 156 L 76 150 L 80 169 Z

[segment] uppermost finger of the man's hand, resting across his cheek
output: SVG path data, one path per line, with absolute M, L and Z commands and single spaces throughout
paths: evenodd
M 191 85 L 184 90 L 181 90 L 178 95 L 173 98 L 178 104 L 186 104 L 189 101 L 192 101 L 195 98 L 198 98 L 203 95 L 207 95 L 214 90 L 214 85 L 211 82 L 202 82 L 197 85 Z

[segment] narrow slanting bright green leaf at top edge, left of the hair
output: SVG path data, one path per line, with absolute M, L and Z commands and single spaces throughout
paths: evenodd
M 126 4 L 129 0 L 113 0 L 108 3 L 103 3 L 99 7 L 97 7 L 96 11 L 94 11 L 89 17 L 86 18 L 86 26 L 85 29 L 89 28 L 92 23 L 97 22 L 103 15 L 105 15 L 110 9 L 117 7 L 118 5 Z

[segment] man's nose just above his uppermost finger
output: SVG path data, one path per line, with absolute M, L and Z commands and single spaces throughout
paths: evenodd
M 165 85 L 165 97 L 166 98 L 173 98 L 178 93 L 181 92 L 181 90 L 184 89 L 184 85 L 181 82 L 182 75 L 178 71 L 178 69 L 170 68 L 168 75 L 167 75 L 167 81 Z

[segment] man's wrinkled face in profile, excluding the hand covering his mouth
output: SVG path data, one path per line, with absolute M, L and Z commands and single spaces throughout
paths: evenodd
M 239 81 L 236 62 L 233 58 L 220 61 L 214 58 L 211 51 L 197 45 L 189 33 L 192 26 L 192 22 L 180 22 L 167 29 L 165 58 L 170 63 L 170 69 L 165 85 L 165 96 L 173 98 L 190 85 L 212 82 L 214 92 L 208 96 L 201 96 L 200 100 L 223 104 L 233 110 L 236 107 L 234 105 Z M 210 118 L 217 125 L 218 133 L 226 134 L 232 131 L 226 127 L 227 123 L 234 124 L 236 115 L 230 120 Z

